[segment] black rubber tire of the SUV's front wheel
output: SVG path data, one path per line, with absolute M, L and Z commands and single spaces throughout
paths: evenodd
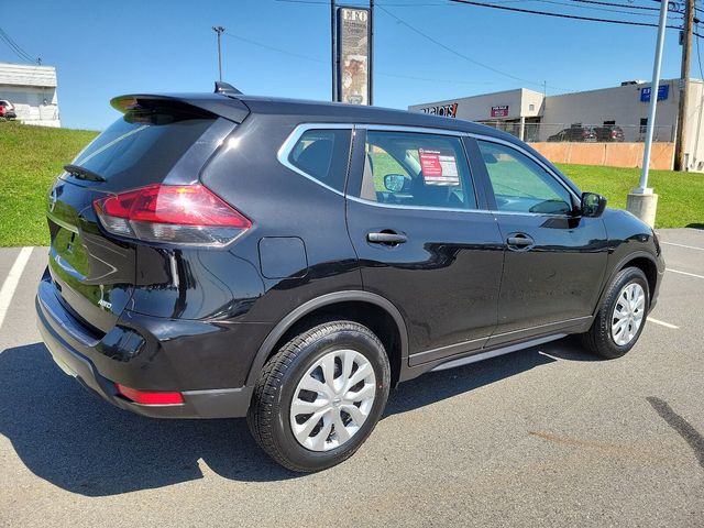
M 624 345 L 616 344 L 612 336 L 612 315 L 614 307 L 618 300 L 620 292 L 629 284 L 637 283 L 646 293 L 646 305 L 642 322 L 640 328 L 634 336 L 634 338 Z M 626 267 L 618 272 L 614 277 L 614 280 L 606 289 L 604 300 L 600 307 L 598 312 L 592 323 L 592 328 L 586 333 L 580 336 L 582 344 L 588 351 L 601 355 L 607 360 L 615 360 L 624 356 L 630 349 L 634 348 L 642 329 L 646 327 L 646 317 L 650 307 L 650 292 L 648 289 L 648 278 L 645 273 L 637 267 Z

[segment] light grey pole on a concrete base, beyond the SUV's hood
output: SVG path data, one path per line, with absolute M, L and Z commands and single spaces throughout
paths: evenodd
M 650 172 L 650 150 L 652 146 L 652 133 L 656 124 L 656 110 L 658 108 L 658 88 L 660 86 L 660 66 L 662 65 L 662 47 L 664 46 L 664 30 L 668 22 L 668 1 L 660 2 L 660 24 L 656 42 L 656 58 L 652 65 L 652 82 L 650 84 L 650 109 L 648 112 L 648 125 L 646 129 L 646 145 L 642 155 L 642 172 L 640 185 L 634 189 L 626 199 L 626 209 L 641 219 L 651 228 L 656 222 L 658 195 L 648 187 L 648 173 Z

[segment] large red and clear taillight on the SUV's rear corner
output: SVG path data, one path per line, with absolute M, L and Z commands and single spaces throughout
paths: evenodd
M 148 242 L 223 245 L 252 227 L 201 185 L 151 185 L 92 205 L 110 233 Z

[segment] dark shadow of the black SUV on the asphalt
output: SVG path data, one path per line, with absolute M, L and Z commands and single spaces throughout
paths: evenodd
M 386 415 L 551 363 L 559 354 L 585 359 L 570 341 L 559 341 L 430 373 L 393 391 Z M 200 459 L 231 480 L 299 476 L 256 447 L 243 419 L 158 420 L 114 408 L 64 375 L 43 343 L 0 352 L 0 433 L 34 474 L 73 493 L 106 496 L 201 479 Z

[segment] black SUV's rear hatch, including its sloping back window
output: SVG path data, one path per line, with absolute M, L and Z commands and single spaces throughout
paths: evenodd
M 220 133 L 234 127 L 230 121 L 223 127 L 224 120 L 216 114 L 174 100 L 133 101 L 121 119 L 66 166 L 48 196 L 50 273 L 55 293 L 97 334 L 108 332 L 130 301 L 140 242 L 107 235 L 94 201 L 162 184 L 175 166 L 184 165 L 178 165 L 179 160 L 190 148 L 196 154 L 188 155 L 188 178 L 197 180 L 202 165 L 193 166 L 190 158 L 207 160 L 202 139 L 212 142 L 209 129 L 216 122 Z M 210 146 L 211 154 L 217 145 Z

